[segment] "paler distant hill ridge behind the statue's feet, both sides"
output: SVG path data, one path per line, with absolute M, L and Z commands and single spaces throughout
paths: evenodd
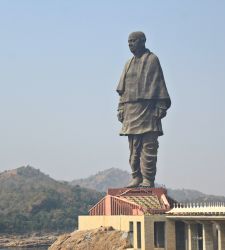
M 88 187 L 100 192 L 106 192 L 108 187 L 117 188 L 125 187 L 130 180 L 130 174 L 127 171 L 118 168 L 110 168 L 86 179 L 73 180 L 71 185 L 80 185 L 81 187 Z M 160 186 L 159 184 L 156 184 Z M 168 195 L 179 202 L 212 202 L 223 201 L 224 196 L 207 195 L 197 190 L 190 189 L 170 189 L 167 188 Z

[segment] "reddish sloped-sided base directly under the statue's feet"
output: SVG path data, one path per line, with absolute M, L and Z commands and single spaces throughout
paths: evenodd
M 109 188 L 107 195 L 89 210 L 89 214 L 164 214 L 174 202 L 165 188 Z

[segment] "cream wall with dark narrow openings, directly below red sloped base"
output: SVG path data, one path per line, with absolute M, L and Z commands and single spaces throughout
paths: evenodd
M 95 229 L 101 226 L 112 226 L 114 229 L 129 231 L 129 222 L 133 222 L 133 245 L 138 249 L 137 222 L 141 223 L 141 249 L 142 250 L 175 250 L 175 223 L 168 220 L 165 215 L 142 216 L 79 216 L 79 230 Z M 165 222 L 165 248 L 154 247 L 154 222 Z

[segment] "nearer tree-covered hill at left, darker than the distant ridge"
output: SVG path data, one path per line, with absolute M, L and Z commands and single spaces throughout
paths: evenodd
M 0 233 L 71 231 L 102 194 L 30 166 L 0 173 Z

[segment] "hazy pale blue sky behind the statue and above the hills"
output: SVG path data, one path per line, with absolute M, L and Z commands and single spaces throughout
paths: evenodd
M 156 181 L 225 195 L 225 1 L 0 1 L 0 171 L 130 171 L 115 92 L 130 32 L 172 99 Z

